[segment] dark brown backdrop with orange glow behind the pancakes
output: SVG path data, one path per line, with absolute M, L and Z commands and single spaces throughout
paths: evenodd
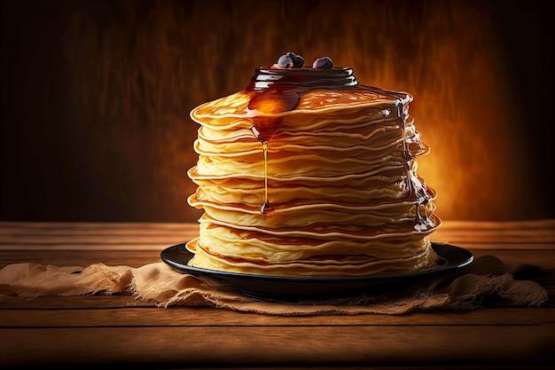
M 414 96 L 443 219 L 555 217 L 550 1 L 0 4 L 1 220 L 196 221 L 189 112 L 285 51 Z

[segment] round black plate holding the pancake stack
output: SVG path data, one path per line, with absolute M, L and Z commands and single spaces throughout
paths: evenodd
M 215 279 L 236 288 L 240 293 L 262 300 L 301 301 L 321 300 L 348 295 L 369 295 L 384 290 L 407 287 L 422 279 L 435 278 L 456 272 L 473 262 L 468 250 L 449 244 L 432 243 L 435 253 L 443 260 L 442 266 L 425 272 L 354 277 L 285 277 L 255 275 L 240 272 L 222 272 L 188 266 L 193 254 L 185 244 L 177 244 L 160 253 L 162 261 L 180 272 Z

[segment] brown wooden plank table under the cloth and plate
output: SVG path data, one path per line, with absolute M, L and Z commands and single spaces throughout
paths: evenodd
M 197 224 L 0 222 L 0 268 L 33 262 L 138 267 L 190 240 Z M 448 222 L 434 240 L 505 263 L 555 268 L 555 220 Z M 547 307 L 403 316 L 283 317 L 158 308 L 130 295 L 0 298 L 0 367 L 551 368 L 555 281 Z

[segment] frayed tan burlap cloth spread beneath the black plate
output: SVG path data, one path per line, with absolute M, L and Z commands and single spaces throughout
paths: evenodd
M 549 278 L 546 278 L 549 276 Z M 548 293 L 541 281 L 552 283 L 553 272 L 536 265 L 504 264 L 482 256 L 464 269 L 393 289 L 387 293 L 283 303 L 241 295 L 229 287 L 176 272 L 167 264 L 133 268 L 91 264 L 8 264 L 0 270 L 2 295 L 135 295 L 160 308 L 209 306 L 274 315 L 404 314 L 422 310 L 474 310 L 491 305 L 542 306 Z

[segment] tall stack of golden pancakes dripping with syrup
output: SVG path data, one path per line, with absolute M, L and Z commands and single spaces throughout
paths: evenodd
M 429 148 L 411 100 L 349 68 L 259 68 L 245 90 L 193 109 L 188 201 L 204 214 L 189 264 L 280 276 L 434 268 L 428 236 L 441 221 L 416 172 Z

